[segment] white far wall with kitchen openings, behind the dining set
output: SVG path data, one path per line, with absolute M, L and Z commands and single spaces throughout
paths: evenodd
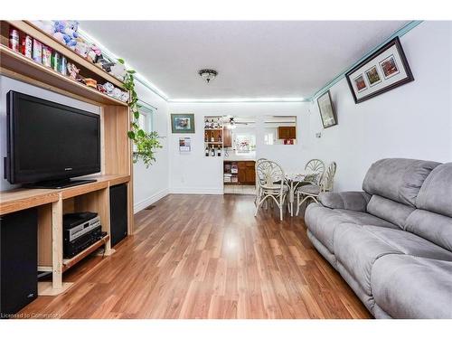
M 195 134 L 170 134 L 170 191 L 172 193 L 221 194 L 222 159 L 204 156 L 204 116 L 256 117 L 256 157 L 279 162 L 285 169 L 295 170 L 304 165 L 303 142 L 297 145 L 264 145 L 263 116 L 297 116 L 297 135 L 309 131 L 308 103 L 170 103 L 169 113 L 193 113 Z M 192 152 L 179 153 L 179 137 L 192 137 Z

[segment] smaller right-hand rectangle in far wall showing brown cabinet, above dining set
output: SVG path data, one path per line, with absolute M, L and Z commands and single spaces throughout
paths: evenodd
M 296 145 L 297 117 L 296 116 L 264 117 L 264 144 Z

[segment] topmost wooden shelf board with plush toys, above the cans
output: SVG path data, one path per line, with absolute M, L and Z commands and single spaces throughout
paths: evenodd
M 51 47 L 53 50 L 60 52 L 65 57 L 71 59 L 71 61 L 74 61 L 79 64 L 79 66 L 84 67 L 85 69 L 92 71 L 93 73 L 96 73 L 99 77 L 105 79 L 108 82 L 111 82 L 113 85 L 117 86 L 120 89 L 124 88 L 124 83 L 108 72 L 101 69 L 96 64 L 92 63 L 91 61 L 88 61 L 87 59 L 83 58 L 76 52 L 73 52 L 70 48 L 68 48 L 66 45 L 64 45 L 62 42 L 56 40 L 52 35 L 43 32 L 40 28 L 36 27 L 31 22 L 26 21 L 6 21 L 8 24 L 14 26 L 19 31 L 22 31 L 24 33 L 27 33 L 31 35 L 33 38 L 39 40 L 43 44 Z

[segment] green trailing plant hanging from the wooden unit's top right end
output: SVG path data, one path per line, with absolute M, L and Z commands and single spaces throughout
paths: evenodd
M 124 60 L 118 59 L 118 62 L 124 64 Z M 135 90 L 135 76 L 136 71 L 127 70 L 127 75 L 124 80 L 124 88 L 130 93 L 130 99 L 128 101 L 128 107 L 132 112 L 132 121 L 130 122 L 130 130 L 127 132 L 127 136 L 133 141 L 137 146 L 134 150 L 133 161 L 137 163 L 138 159 L 141 158 L 146 165 L 152 165 L 155 162 L 155 151 L 158 148 L 162 148 L 160 143 L 160 137 L 158 133 L 146 132 L 139 127 L 138 119 L 140 117 L 139 109 L 142 107 L 138 104 L 137 91 Z

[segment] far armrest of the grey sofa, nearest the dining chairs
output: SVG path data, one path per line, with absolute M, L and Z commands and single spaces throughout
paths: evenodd
M 365 192 L 325 192 L 320 193 L 319 201 L 328 208 L 366 212 L 372 195 Z

